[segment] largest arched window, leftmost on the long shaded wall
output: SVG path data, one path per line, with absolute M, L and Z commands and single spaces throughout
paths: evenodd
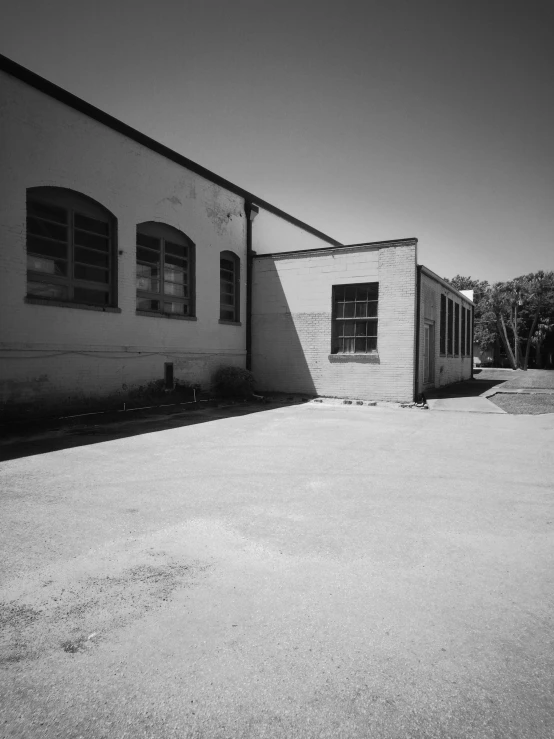
M 58 187 L 27 190 L 27 297 L 116 305 L 115 218 Z

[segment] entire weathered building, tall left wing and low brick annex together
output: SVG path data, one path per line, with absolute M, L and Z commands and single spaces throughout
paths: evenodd
M 343 245 L 0 57 L 4 414 L 221 365 L 409 401 L 471 376 L 472 302 L 417 240 Z

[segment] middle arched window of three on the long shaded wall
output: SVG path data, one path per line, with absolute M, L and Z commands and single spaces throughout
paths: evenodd
M 194 244 L 172 226 L 137 226 L 137 311 L 194 316 Z

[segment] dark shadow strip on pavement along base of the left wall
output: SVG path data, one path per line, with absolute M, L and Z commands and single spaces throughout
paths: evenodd
M 104 413 L 71 420 L 41 422 L 33 427 L 13 431 L 0 438 L 0 462 L 36 454 L 47 454 L 62 449 L 98 444 L 103 441 L 122 439 L 155 431 L 194 426 L 198 423 L 223 420 L 250 413 L 261 413 L 275 408 L 303 403 L 307 398 L 290 397 L 271 400 L 268 403 L 221 403 L 211 407 L 155 408 L 149 411 Z

